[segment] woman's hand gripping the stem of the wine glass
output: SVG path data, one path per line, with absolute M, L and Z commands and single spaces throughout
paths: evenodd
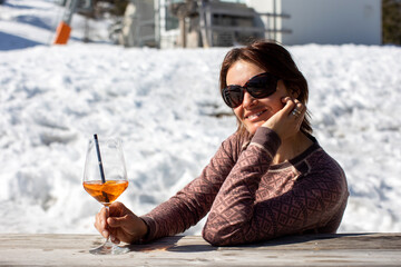
M 113 202 L 96 215 L 95 228 L 115 244 L 131 244 L 141 239 L 148 231 L 146 224 L 121 202 Z

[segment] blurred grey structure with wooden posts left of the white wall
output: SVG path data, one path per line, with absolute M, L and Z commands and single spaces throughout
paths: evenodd
M 288 14 L 256 12 L 243 2 L 217 0 L 131 0 L 118 43 L 125 47 L 231 47 L 255 39 L 275 39 L 277 19 Z M 266 21 L 272 27 L 266 27 Z

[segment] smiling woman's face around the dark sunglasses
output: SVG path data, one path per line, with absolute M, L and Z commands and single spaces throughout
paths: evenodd
M 227 86 L 244 86 L 252 77 L 263 72 L 266 71 L 256 65 L 239 60 L 228 69 L 226 82 Z M 290 93 L 284 82 L 278 80 L 276 91 L 266 98 L 256 99 L 245 91 L 244 101 L 234 108 L 234 112 L 245 126 L 246 130 L 253 135 L 258 127 L 284 107 L 281 99 L 287 96 L 290 96 Z

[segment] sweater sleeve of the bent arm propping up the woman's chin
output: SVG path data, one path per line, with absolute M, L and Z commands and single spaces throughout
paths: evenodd
M 262 241 L 339 221 L 348 191 L 338 165 L 299 177 L 283 195 L 255 201 L 261 177 L 280 146 L 277 138 L 275 132 L 261 127 L 241 154 L 216 196 L 203 230 L 205 240 L 212 245 Z

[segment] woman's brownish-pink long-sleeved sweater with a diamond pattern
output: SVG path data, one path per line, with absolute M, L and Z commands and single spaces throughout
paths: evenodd
M 207 212 L 203 237 L 214 246 L 335 233 L 349 197 L 345 175 L 311 139 L 301 155 L 272 165 L 281 145 L 274 131 L 260 127 L 248 145 L 232 135 L 199 177 L 141 217 L 145 241 L 183 233 Z

